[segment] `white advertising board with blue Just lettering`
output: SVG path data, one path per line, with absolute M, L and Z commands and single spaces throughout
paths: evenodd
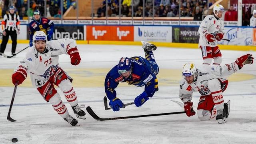
M 238 46 L 252 46 L 252 28 L 224 28 L 224 39 L 230 40 L 230 42 L 226 40 L 217 41 L 217 44 L 223 45 L 238 45 Z

